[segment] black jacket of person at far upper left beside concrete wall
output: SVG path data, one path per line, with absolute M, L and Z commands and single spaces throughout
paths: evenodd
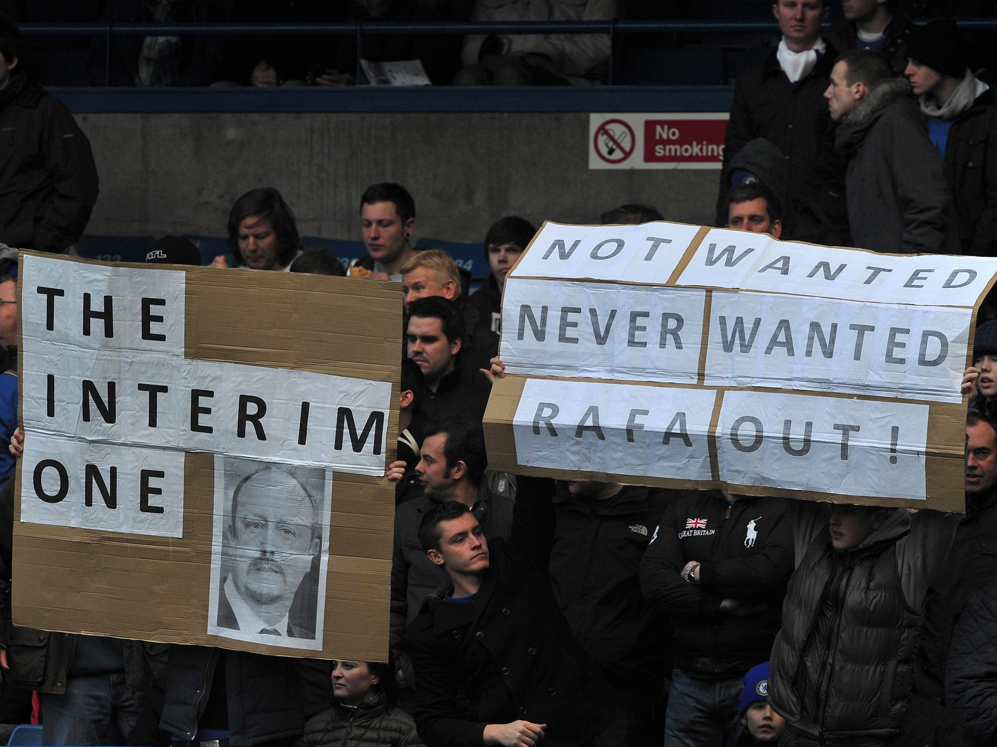
M 90 140 L 62 102 L 24 74 L 0 91 L 0 243 L 61 252 L 97 201 Z

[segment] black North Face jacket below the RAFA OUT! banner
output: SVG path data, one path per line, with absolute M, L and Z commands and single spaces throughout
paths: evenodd
M 640 559 L 672 495 L 625 486 L 605 500 L 558 483 L 550 582 L 571 632 L 617 687 L 657 687 L 669 636 L 640 593 Z

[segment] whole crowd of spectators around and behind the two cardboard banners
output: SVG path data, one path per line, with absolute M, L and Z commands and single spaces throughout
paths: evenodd
M 390 7 L 365 2 L 363 12 Z M 891 3 L 845 0 L 825 38 L 825 0 L 777 0 L 773 10 L 779 46 L 737 82 L 718 225 L 874 251 L 997 256 L 995 105 L 955 24 L 913 27 Z M 474 41 L 489 49 L 466 60 L 478 61 L 475 75 L 552 74 L 536 65 L 552 59 L 546 52 L 518 55 L 506 41 Z M 169 75 L 157 45 L 173 48 L 161 39 L 133 50 L 130 77 Z M 334 64 L 319 77 L 342 75 Z M 62 252 L 85 229 L 97 173 L 65 107 L 18 69 L 10 28 L 0 29 L 6 131 L 0 241 Z M 358 195 L 367 256 L 349 267 L 301 249 L 293 211 L 271 187 L 234 201 L 229 252 L 214 262 L 213 272 L 401 284 L 398 458 L 386 475 L 397 502 L 390 662 L 14 627 L 8 573 L 2 717 L 26 718 L 18 709 L 32 710 L 34 691 L 52 745 L 992 744 L 997 321 L 978 328 L 963 380 L 974 393 L 965 514 L 516 476 L 489 469 L 482 421 L 503 375 L 505 274 L 535 227 L 496 217 L 484 240 L 490 277 L 473 293 L 450 255 L 414 248 L 416 200 L 390 182 Z M 639 204 L 592 216 L 661 218 Z M 192 265 L 200 255 L 167 236 L 148 261 Z M 12 266 L 0 251 L 0 435 L 16 456 Z M 8 477 L 13 461 L 0 465 Z M 7 571 L 13 516 L 7 480 Z

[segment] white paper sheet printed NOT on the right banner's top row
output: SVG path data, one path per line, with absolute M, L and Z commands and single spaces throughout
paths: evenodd
M 699 226 L 657 221 L 635 226 L 547 222 L 509 273 L 513 278 L 595 278 L 662 285 Z

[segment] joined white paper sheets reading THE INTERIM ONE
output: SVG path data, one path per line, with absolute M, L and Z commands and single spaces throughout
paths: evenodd
M 23 521 L 180 537 L 185 451 L 384 474 L 391 384 L 184 358 L 183 272 L 26 255 L 19 291 Z

